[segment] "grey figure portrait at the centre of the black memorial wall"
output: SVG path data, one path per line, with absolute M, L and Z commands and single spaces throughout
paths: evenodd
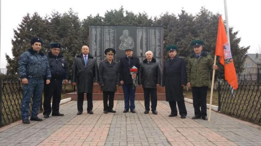
M 129 30 L 123 30 L 122 36 L 120 36 L 121 44 L 119 45 L 120 50 L 133 49 L 134 41 L 131 36 L 129 36 Z

